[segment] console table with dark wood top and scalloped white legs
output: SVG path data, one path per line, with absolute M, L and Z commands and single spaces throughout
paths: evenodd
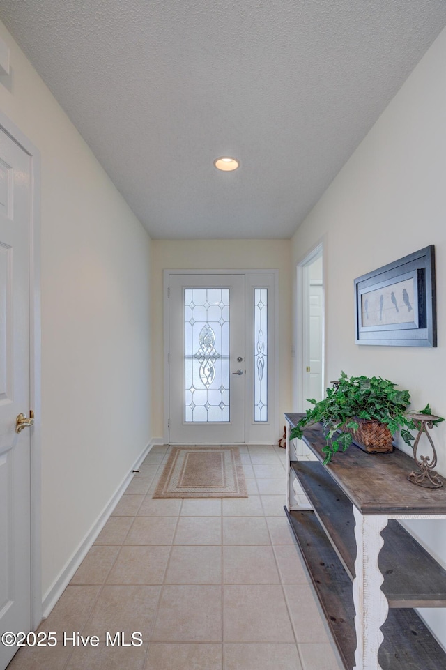
M 446 607 L 446 570 L 397 521 L 446 519 L 446 485 L 408 482 L 413 459 L 400 450 L 352 446 L 324 466 L 320 425 L 305 431 L 313 459 L 302 458 L 289 439 L 300 416 L 285 414 L 286 514 L 346 670 L 446 670 L 413 609 Z

